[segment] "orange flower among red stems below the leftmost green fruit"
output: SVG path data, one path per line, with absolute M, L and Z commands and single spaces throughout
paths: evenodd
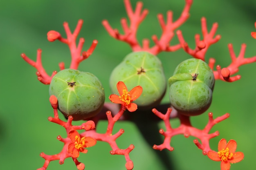
M 76 130 L 71 130 L 69 136 L 72 142 L 68 146 L 68 152 L 73 158 L 79 157 L 79 152 L 87 153 L 85 148 L 94 146 L 97 142 L 92 137 L 81 137 Z

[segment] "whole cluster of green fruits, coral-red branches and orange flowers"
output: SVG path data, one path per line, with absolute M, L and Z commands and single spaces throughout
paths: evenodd
M 140 46 L 136 38 L 138 26 L 148 13 L 146 9 L 141 11 L 141 2 L 137 3 L 135 12 L 133 12 L 130 1 L 124 0 L 126 11 L 130 18 L 130 26 L 128 26 L 126 19 L 122 19 L 124 35 L 121 35 L 116 29 L 112 29 L 107 20 L 102 22 L 113 38 L 127 42 L 133 51 L 124 57 L 124 60 L 113 69 L 110 75 L 110 88 L 113 94 L 109 96 L 109 99 L 112 103 L 104 103 L 104 88 L 95 75 L 78 70 L 79 63 L 87 59 L 97 45 L 97 40 L 94 40 L 88 51 L 82 52 L 84 39 L 81 38 L 76 46 L 76 37 L 81 30 L 82 20 L 79 20 L 74 33 L 71 33 L 67 22 L 63 24 L 67 38 L 63 38 L 57 31 L 49 31 L 47 33 L 47 38 L 50 42 L 59 40 L 67 44 L 70 47 L 70 51 L 73 51 L 70 68 L 65 69 L 64 63 L 60 63 L 61 71 L 58 73 L 54 71 L 49 76 L 42 66 L 42 51 L 40 49 L 38 49 L 36 62 L 29 59 L 24 53 L 21 54 L 26 62 L 37 69 L 38 80 L 43 84 L 49 84 L 49 100 L 54 109 L 54 117 L 49 117 L 48 120 L 63 126 L 67 132 L 66 138 L 57 137 L 59 141 L 64 143 L 63 150 L 59 154 L 46 155 L 43 152 L 40 154 L 45 159 L 45 164 L 42 168 L 39 168 L 40 170 L 45 170 L 49 162 L 53 160 L 59 160 L 59 163 L 63 164 L 64 159 L 67 157 L 72 157 L 77 169 L 83 170 L 85 168 L 84 164 L 77 160 L 79 153 L 86 153 L 87 150 L 85 148 L 94 146 L 97 141 L 107 142 L 112 148 L 110 154 L 124 155 L 126 169 L 131 170 L 133 162 L 130 160 L 129 153 L 135 146 L 131 144 L 126 149 L 120 149 L 117 146 L 116 139 L 124 133 L 124 129 L 113 133 L 113 128 L 118 120 L 129 119 L 129 117 L 123 117 L 125 110 L 134 112 L 137 108 L 143 110 L 143 112 L 151 109 L 157 117 L 164 121 L 166 126 L 166 131 L 159 130 L 164 136 L 163 144 L 154 145 L 153 149 L 162 150 L 166 148 L 172 151 L 171 138 L 175 135 L 183 134 L 185 137 L 194 136 L 200 139 L 201 143 L 198 139 L 194 139 L 195 145 L 210 159 L 221 161 L 222 170 L 228 170 L 230 163 L 236 163 L 243 159 L 243 152 L 235 152 L 236 141 L 234 140 L 230 140 L 227 144 L 227 141 L 222 139 L 218 148 L 219 152 L 211 150 L 209 146 L 209 140 L 219 135 L 218 131 L 214 133 L 209 133 L 209 131 L 215 124 L 227 119 L 229 113 L 216 119 L 213 119 L 213 113 L 209 113 L 208 124 L 203 130 L 193 127 L 189 118 L 190 116 L 205 113 L 209 108 L 216 79 L 226 82 L 240 79 L 240 75 L 234 77 L 231 77 L 231 75 L 238 72 L 239 66 L 256 62 L 256 57 L 244 57 L 245 44 L 242 44 L 240 54 L 236 57 L 233 46 L 229 44 L 231 64 L 227 68 L 221 68 L 218 65 L 216 66 L 217 70 L 214 71 L 215 59 L 211 58 L 207 64 L 205 62 L 205 53 L 211 44 L 220 40 L 220 35 L 215 36 L 218 24 L 213 24 L 211 31 L 208 33 L 206 19 L 202 18 L 203 38 L 200 40 L 200 36 L 196 35 L 196 47 L 191 49 L 185 42 L 182 32 L 180 30 L 175 32 L 175 29 L 189 18 L 189 10 L 193 0 L 185 0 L 185 2 L 182 15 L 175 22 L 173 22 L 171 11 L 167 13 L 166 23 L 162 14 L 158 15 L 162 27 L 162 35 L 159 39 L 156 35 L 153 35 L 152 39 L 155 45 L 152 47 L 149 46 L 149 40 L 144 40 L 142 46 Z M 170 46 L 169 43 L 175 33 L 180 43 Z M 252 36 L 255 38 L 255 33 L 252 33 Z M 161 51 L 176 51 L 178 49 L 184 49 L 186 53 L 194 58 L 181 62 L 167 83 L 161 60 L 159 60 L 157 54 Z M 160 102 L 167 90 L 170 103 L 167 104 L 168 108 L 165 108 L 166 105 L 160 104 Z M 166 109 L 166 114 L 162 114 L 155 107 L 162 110 Z M 115 110 L 115 112 L 111 112 L 111 110 Z M 66 117 L 67 121 L 62 121 L 59 118 L 58 111 Z M 102 113 L 106 114 L 103 115 Z M 176 113 L 176 115 L 172 116 L 171 113 Z M 103 116 L 107 117 L 108 127 L 106 133 L 100 134 L 96 132 L 95 126 Z M 178 117 L 180 119 L 178 128 L 171 127 L 170 117 Z M 81 126 L 73 126 L 72 121 L 76 120 L 85 120 L 85 123 L 81 124 Z M 79 133 L 76 130 L 85 131 Z

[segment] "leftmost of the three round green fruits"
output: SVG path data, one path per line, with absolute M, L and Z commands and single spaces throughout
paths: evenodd
M 73 120 L 87 119 L 97 115 L 105 101 L 104 89 L 92 73 L 73 69 L 58 72 L 52 78 L 50 95 L 58 99 L 58 109 Z

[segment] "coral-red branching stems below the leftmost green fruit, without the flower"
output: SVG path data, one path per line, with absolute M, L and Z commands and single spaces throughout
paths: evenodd
M 124 133 L 124 129 L 120 129 L 117 133 L 113 134 L 113 128 L 114 128 L 115 122 L 118 121 L 120 119 L 120 117 L 123 115 L 124 111 L 126 110 L 125 106 L 122 106 L 121 109 L 119 110 L 119 112 L 113 117 L 112 117 L 110 111 L 106 112 L 106 115 L 108 118 L 108 128 L 106 130 L 106 133 L 100 134 L 100 133 L 97 133 L 95 130 L 94 121 L 91 121 L 91 120 L 86 121 L 85 123 L 81 124 L 80 126 L 72 125 L 72 119 L 73 119 L 72 116 L 68 117 L 67 122 L 62 121 L 58 117 L 58 99 L 57 99 L 57 97 L 52 95 L 49 98 L 49 101 L 54 110 L 54 117 L 49 117 L 48 120 L 53 123 L 63 126 L 66 130 L 67 138 L 63 138 L 61 136 L 57 137 L 57 139 L 59 141 L 64 143 L 63 149 L 58 154 L 46 155 L 43 152 L 40 153 L 40 156 L 45 159 L 45 163 L 44 163 L 43 167 L 39 168 L 38 170 L 46 170 L 50 161 L 59 160 L 59 163 L 63 164 L 64 160 L 66 158 L 72 157 L 72 155 L 75 155 L 74 153 L 72 153 L 70 151 L 70 145 L 72 144 L 72 139 L 70 138 L 70 132 L 74 131 L 74 130 L 86 130 L 85 132 L 80 133 L 81 137 L 90 137 L 90 138 L 96 139 L 97 141 L 105 141 L 108 144 L 110 144 L 110 147 L 112 148 L 112 150 L 110 151 L 110 154 L 111 155 L 124 155 L 124 157 L 126 159 L 126 165 L 125 165 L 126 169 L 132 170 L 133 162 L 130 160 L 129 153 L 134 149 L 135 146 L 131 144 L 126 149 L 120 149 L 117 146 L 116 139 Z M 73 145 L 74 145 L 74 143 L 73 143 Z M 87 150 L 83 151 L 83 153 L 86 153 L 86 152 L 87 152 Z M 79 156 L 79 154 L 78 154 L 78 156 Z M 76 164 L 77 169 L 83 170 L 85 168 L 85 165 L 84 165 L 84 163 L 79 162 L 77 160 L 77 157 L 72 157 L 72 159 L 73 159 L 74 163 Z

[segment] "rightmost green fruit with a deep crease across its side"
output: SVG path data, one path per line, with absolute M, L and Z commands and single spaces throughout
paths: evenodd
M 204 61 L 181 62 L 168 80 L 171 105 L 187 116 L 204 113 L 211 105 L 214 82 L 213 71 Z

